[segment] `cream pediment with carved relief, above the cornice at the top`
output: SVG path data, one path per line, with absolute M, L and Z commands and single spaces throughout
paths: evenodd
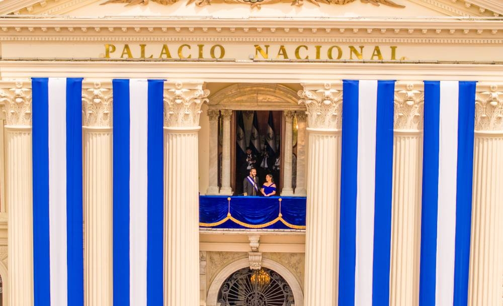
M 503 16 L 499 0 L 4 0 L 3 15 L 71 17 Z

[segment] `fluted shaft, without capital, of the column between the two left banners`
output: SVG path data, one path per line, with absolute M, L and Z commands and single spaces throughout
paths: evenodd
M 112 304 L 112 128 L 83 127 L 86 306 Z

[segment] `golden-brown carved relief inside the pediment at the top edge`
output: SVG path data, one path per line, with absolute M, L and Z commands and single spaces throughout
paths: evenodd
M 177 3 L 179 0 L 150 0 L 150 1 L 162 5 L 172 5 Z M 330 4 L 345 5 L 355 2 L 356 0 L 307 0 L 307 1 L 319 7 L 320 3 L 328 5 Z M 377 7 L 382 4 L 393 8 L 405 8 L 405 6 L 396 4 L 391 0 L 360 0 L 360 1 L 362 3 L 372 4 Z M 126 4 L 126 6 L 133 6 L 133 5 L 147 5 L 148 2 L 149 0 L 108 0 L 102 3 L 101 5 L 111 3 L 124 3 Z M 260 9 L 260 6 L 263 4 L 274 4 L 280 2 L 291 3 L 292 6 L 302 6 L 304 4 L 304 0 L 188 0 L 187 6 L 192 3 L 195 3 L 197 6 L 205 6 L 210 5 L 212 3 L 244 3 L 249 4 L 251 7 L 258 7 Z

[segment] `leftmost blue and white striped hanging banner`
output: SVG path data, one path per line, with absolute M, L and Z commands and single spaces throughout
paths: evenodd
M 35 306 L 83 306 L 82 79 L 32 90 Z

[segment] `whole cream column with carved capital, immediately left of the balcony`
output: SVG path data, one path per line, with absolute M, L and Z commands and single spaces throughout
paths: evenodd
M 170 84 L 164 122 L 164 305 L 199 306 L 198 131 L 202 84 Z

